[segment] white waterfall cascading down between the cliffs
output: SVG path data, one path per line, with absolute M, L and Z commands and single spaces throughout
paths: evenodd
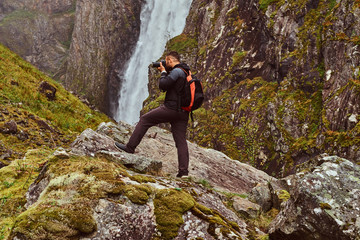
M 116 121 L 139 121 L 148 97 L 148 66 L 159 59 L 166 42 L 182 33 L 192 0 L 146 0 L 141 11 L 138 43 L 125 70 Z

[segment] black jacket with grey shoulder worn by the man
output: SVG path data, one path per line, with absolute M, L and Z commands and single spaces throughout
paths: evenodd
M 174 66 L 170 73 L 161 73 L 159 79 L 159 88 L 166 91 L 164 105 L 173 110 L 180 110 L 180 94 L 183 92 L 187 74 L 190 68 L 185 63 L 180 63 Z

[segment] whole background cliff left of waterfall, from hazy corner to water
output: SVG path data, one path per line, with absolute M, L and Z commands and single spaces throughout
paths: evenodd
M 0 42 L 110 113 L 142 0 L 1 1 Z M 114 106 L 116 107 L 116 106 Z

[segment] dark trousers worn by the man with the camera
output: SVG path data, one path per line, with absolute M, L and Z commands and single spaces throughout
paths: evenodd
M 129 150 L 134 151 L 150 127 L 159 123 L 169 122 L 177 148 L 179 171 L 187 172 L 189 167 L 189 150 L 186 142 L 188 120 L 188 112 L 175 111 L 165 106 L 160 106 L 140 117 L 140 121 L 136 125 L 126 146 Z

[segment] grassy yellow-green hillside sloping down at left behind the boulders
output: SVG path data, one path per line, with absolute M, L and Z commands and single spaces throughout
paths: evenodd
M 28 149 L 68 146 L 85 128 L 108 120 L 3 45 L 0 102 L 0 166 Z

